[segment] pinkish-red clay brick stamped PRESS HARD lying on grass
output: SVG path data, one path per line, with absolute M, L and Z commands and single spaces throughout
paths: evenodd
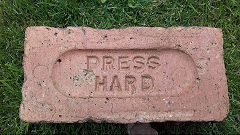
M 26 122 L 221 121 L 229 109 L 222 32 L 208 27 L 29 27 Z

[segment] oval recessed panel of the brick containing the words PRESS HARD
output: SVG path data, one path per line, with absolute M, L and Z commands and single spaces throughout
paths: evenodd
M 192 58 L 174 50 L 72 50 L 53 67 L 55 88 L 67 97 L 177 96 L 196 83 Z

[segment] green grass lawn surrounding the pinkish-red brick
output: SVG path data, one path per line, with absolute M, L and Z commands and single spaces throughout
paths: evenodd
M 105 0 L 102 0 L 104 2 Z M 32 124 L 19 120 L 28 26 L 209 26 L 223 30 L 230 112 L 219 123 L 153 123 L 159 133 L 240 134 L 240 1 L 0 0 L 0 134 L 126 134 L 121 124 Z

